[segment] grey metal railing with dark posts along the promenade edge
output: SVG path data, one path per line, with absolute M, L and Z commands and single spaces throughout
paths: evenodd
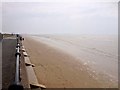
M 8 90 L 24 90 L 23 86 L 21 85 L 20 79 L 20 37 L 17 35 L 17 46 L 16 46 L 16 70 L 15 70 L 15 81 L 11 84 Z

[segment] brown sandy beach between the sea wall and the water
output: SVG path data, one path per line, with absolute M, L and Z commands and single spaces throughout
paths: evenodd
M 102 73 L 97 76 L 85 63 L 60 49 L 30 37 L 25 37 L 23 45 L 31 62 L 35 64 L 39 83 L 47 88 L 117 87 L 116 82 L 103 78 Z

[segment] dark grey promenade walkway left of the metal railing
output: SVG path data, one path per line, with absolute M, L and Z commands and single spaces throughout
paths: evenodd
M 16 39 L 2 41 L 2 88 L 8 88 L 15 78 Z

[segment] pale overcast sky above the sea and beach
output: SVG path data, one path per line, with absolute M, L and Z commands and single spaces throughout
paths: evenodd
M 31 2 L 30 2 L 31 1 Z M 117 34 L 117 0 L 5 0 L 2 32 L 22 34 Z M 1 11 L 0 11 L 1 13 Z M 1 16 L 0 16 L 1 17 Z

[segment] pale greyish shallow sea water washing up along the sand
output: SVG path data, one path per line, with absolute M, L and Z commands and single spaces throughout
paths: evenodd
M 103 73 L 118 81 L 118 39 L 114 35 L 42 35 L 33 39 L 64 51 L 90 67 L 87 71 Z M 91 75 L 91 73 L 90 73 Z M 92 77 L 96 78 L 94 75 Z

